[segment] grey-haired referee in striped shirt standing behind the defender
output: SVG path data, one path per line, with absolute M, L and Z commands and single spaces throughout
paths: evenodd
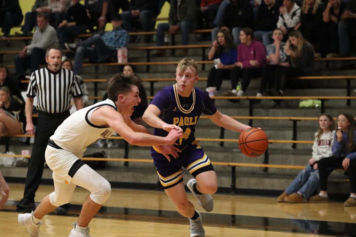
M 32 73 L 27 89 L 26 131 L 30 135 L 35 134 L 35 142 L 28 163 L 25 192 L 23 198 L 17 203 L 17 208 L 35 207 L 34 198 L 42 179 L 48 139 L 54 134 L 57 127 L 69 117 L 70 98 L 74 97 L 77 110 L 83 108 L 82 91 L 77 77 L 72 71 L 61 68 L 61 50 L 48 48 L 46 62 L 47 67 Z M 36 133 L 32 122 L 32 106 L 35 96 L 37 96 L 38 109 Z

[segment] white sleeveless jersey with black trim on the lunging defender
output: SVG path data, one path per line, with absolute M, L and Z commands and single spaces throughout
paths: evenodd
M 80 109 L 64 120 L 49 139 L 64 150 L 83 154 L 87 146 L 100 138 L 106 139 L 115 132 L 109 126 L 95 125 L 91 120 L 95 109 L 103 106 L 110 106 L 117 111 L 116 104 L 111 99 Z

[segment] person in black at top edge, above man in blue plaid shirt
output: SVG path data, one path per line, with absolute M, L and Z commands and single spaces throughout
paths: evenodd
M 88 26 L 91 31 L 96 26 L 96 31 L 104 31 L 106 22 L 111 21 L 113 8 L 110 0 L 84 0 L 84 6 L 87 9 Z

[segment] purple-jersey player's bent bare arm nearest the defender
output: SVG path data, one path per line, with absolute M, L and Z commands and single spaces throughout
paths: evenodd
M 153 128 L 162 128 L 166 131 L 171 131 L 172 129 L 175 130 L 181 130 L 179 126 L 173 125 L 173 124 L 167 124 L 163 122 L 162 119 L 158 117 L 158 115 L 161 113 L 159 108 L 153 104 L 150 104 L 145 113 L 142 116 L 143 121 L 145 121 L 148 125 L 150 125 Z M 183 131 L 182 131 L 183 132 Z

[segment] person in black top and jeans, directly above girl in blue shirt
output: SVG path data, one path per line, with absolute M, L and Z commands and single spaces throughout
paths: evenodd
M 211 40 L 215 41 L 219 29 L 228 29 L 234 43 L 238 46 L 240 42 L 240 31 L 244 27 L 253 28 L 253 8 L 247 0 L 230 0 L 230 4 L 224 9 L 222 27 L 215 27 L 211 32 Z

